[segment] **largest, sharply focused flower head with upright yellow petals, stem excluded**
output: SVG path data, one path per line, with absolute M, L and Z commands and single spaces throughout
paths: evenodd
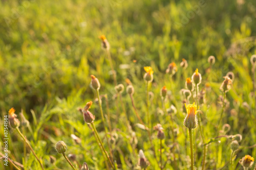
M 195 102 L 191 105 L 188 104 L 186 105 L 186 111 L 187 111 L 187 116 L 184 120 L 184 126 L 187 127 L 188 129 L 195 129 L 197 127 L 197 105 L 195 105 Z

